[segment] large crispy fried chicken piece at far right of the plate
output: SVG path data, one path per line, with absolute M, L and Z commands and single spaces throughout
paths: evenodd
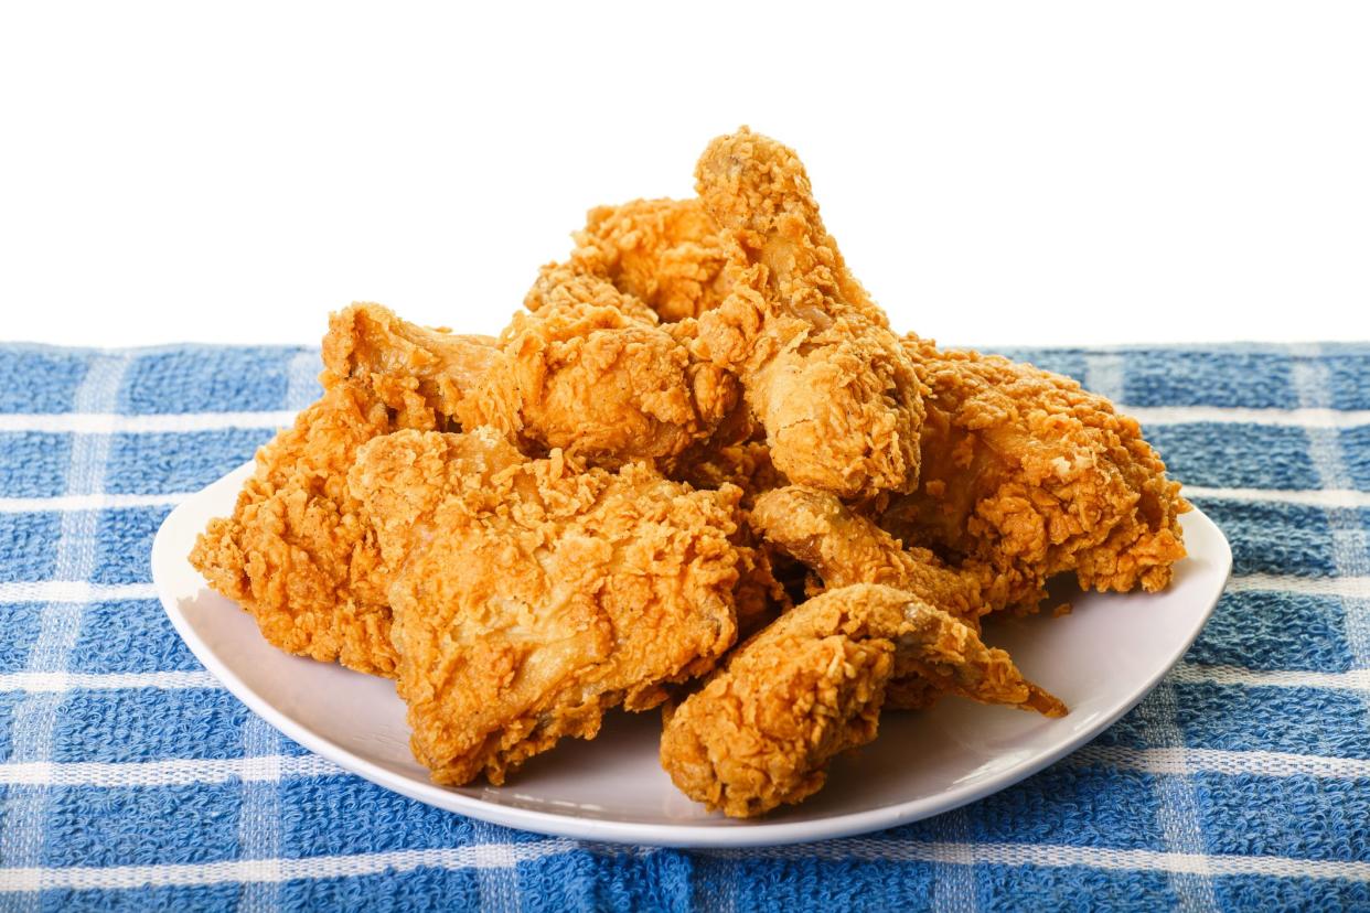
M 1062 572 L 1096 590 L 1170 582 L 1189 505 L 1134 419 L 1029 364 L 917 335 L 904 348 L 930 390 L 922 479 L 881 526 L 952 564 L 992 565 L 1026 610 Z

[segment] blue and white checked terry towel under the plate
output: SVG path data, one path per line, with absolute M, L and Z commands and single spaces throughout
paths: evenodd
M 0 906 L 1370 908 L 1370 346 L 1010 355 L 1143 419 L 1232 539 L 1212 621 L 1017 787 L 859 839 L 689 853 L 381 790 L 181 643 L 152 535 L 314 398 L 314 350 L 0 348 Z

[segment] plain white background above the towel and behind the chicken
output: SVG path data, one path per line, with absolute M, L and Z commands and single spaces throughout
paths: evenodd
M 0 7 L 0 337 L 496 331 L 749 123 L 899 329 L 1370 338 L 1363 4 L 399 5 Z

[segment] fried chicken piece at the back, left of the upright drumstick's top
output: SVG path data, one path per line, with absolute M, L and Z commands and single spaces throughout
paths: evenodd
M 544 267 L 525 304 L 540 311 L 548 277 L 560 271 L 599 277 L 675 322 L 717 308 L 727 293 L 727 250 L 699 200 L 633 200 L 589 211 L 571 235 L 564 264 Z

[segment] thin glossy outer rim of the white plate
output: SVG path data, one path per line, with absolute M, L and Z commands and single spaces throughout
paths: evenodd
M 400 795 L 408 797 L 416 802 L 423 802 L 425 805 L 430 805 L 433 808 L 456 812 L 459 814 L 466 814 L 469 817 L 499 824 L 501 827 L 532 831 L 548 836 L 564 836 L 603 843 L 700 849 L 784 846 L 815 839 L 836 839 L 882 831 L 891 827 L 899 827 L 911 821 L 943 814 L 999 793 L 1051 767 L 1060 758 L 1078 750 L 1089 741 L 1097 738 L 1099 734 L 1117 723 L 1123 715 L 1151 694 L 1160 680 L 1180 663 L 1184 654 L 1189 650 L 1191 645 L 1193 645 L 1195 639 L 1197 639 L 1199 632 L 1208 623 L 1218 600 L 1226 591 L 1228 582 L 1232 578 L 1232 545 L 1228 542 L 1228 537 L 1222 532 L 1222 528 L 1208 517 L 1208 515 L 1197 506 L 1192 506 L 1192 509 L 1184 515 L 1191 517 L 1189 520 L 1185 520 L 1185 523 L 1201 523 L 1212 528 L 1212 532 L 1217 534 L 1217 542 L 1221 543 L 1222 548 L 1219 554 L 1204 554 L 1204 557 L 1208 560 L 1221 558 L 1221 564 L 1225 567 L 1222 568 L 1222 587 L 1217 590 L 1217 594 L 1208 605 L 1195 616 L 1192 628 L 1188 631 L 1173 656 L 1170 656 L 1164 664 L 1159 665 L 1158 669 L 1147 679 L 1145 684 L 1137 690 L 1133 698 L 1125 701 L 1115 712 L 1100 716 L 1097 721 L 1077 731 L 1052 749 L 1023 758 L 1012 767 L 997 772 L 988 780 L 954 786 L 932 797 L 907 799 L 874 809 L 833 814 L 807 821 L 769 823 L 766 819 L 759 819 L 747 823 L 737 823 L 730 827 L 701 827 L 697 824 L 649 824 L 618 821 L 611 819 L 589 819 L 558 812 L 541 812 L 514 805 L 503 805 L 499 802 L 488 802 L 477 797 L 447 790 L 436 783 L 415 783 L 404 775 L 389 771 L 374 761 L 355 754 L 351 750 L 329 741 L 326 736 L 318 735 L 306 725 L 296 723 L 279 712 L 270 701 L 258 694 L 219 658 L 218 653 L 212 650 L 203 638 L 200 638 L 189 619 L 186 619 L 186 616 L 181 612 L 177 595 L 170 591 L 164 579 L 159 579 L 162 575 L 159 575 L 158 571 L 159 568 L 166 567 L 169 561 L 188 561 L 186 554 L 189 552 L 189 543 L 173 542 L 173 537 L 169 532 L 169 528 L 179 524 L 179 520 L 177 523 L 173 523 L 173 520 L 184 513 L 192 512 L 199 500 L 203 498 L 211 489 L 225 486 L 230 483 L 230 480 L 241 485 L 241 482 L 244 482 L 253 470 L 255 461 L 245 463 L 181 501 L 181 504 L 175 505 L 175 508 L 167 513 L 166 519 L 163 519 L 152 541 L 152 582 L 158 591 L 158 600 L 162 602 L 162 608 L 171 620 L 171 626 L 175 628 L 177 634 L 200 661 L 200 664 L 204 665 L 206 671 L 208 671 L 210 675 L 212 675 L 218 683 L 225 687 L 225 690 L 245 704 L 253 713 L 275 727 L 279 732 L 303 745 L 315 754 L 332 761 L 341 769 L 360 776 L 362 779 L 382 788 L 399 793 Z M 177 553 L 178 549 L 181 550 L 179 554 Z M 208 589 L 208 586 L 206 586 L 206 589 Z

